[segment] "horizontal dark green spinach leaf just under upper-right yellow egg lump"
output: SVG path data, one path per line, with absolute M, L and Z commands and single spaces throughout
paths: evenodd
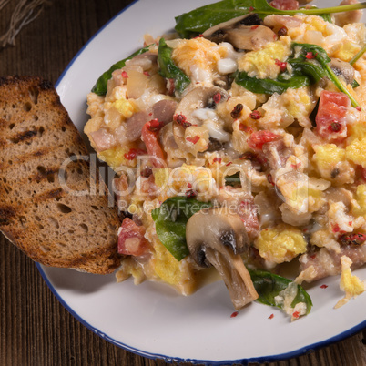
M 297 89 L 302 86 L 309 86 L 310 78 L 305 75 L 294 74 L 288 79 L 286 76 L 280 74 L 276 79 L 259 79 L 255 76 L 250 77 L 245 71 L 241 71 L 235 78 L 235 82 L 253 93 L 282 94 L 289 87 Z

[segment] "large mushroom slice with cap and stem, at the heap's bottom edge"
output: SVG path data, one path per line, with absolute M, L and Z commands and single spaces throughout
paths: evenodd
M 200 267 L 214 266 L 239 310 L 259 295 L 239 253 L 249 249 L 247 231 L 238 215 L 222 208 L 201 209 L 188 219 L 186 239 L 192 258 Z

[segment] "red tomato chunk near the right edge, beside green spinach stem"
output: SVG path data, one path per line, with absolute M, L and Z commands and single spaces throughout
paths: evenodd
M 317 117 L 316 132 L 320 137 L 332 142 L 340 143 L 347 137 L 346 113 L 350 107 L 350 98 L 341 92 L 323 90 Z

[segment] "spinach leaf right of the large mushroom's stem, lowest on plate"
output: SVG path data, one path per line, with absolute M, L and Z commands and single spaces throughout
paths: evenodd
M 285 290 L 292 281 L 266 270 L 249 269 L 249 274 L 253 281 L 253 285 L 259 294 L 257 301 L 262 304 L 276 306 L 281 309 L 280 305 L 276 305 L 276 301 L 274 299 L 279 295 L 280 291 Z M 304 302 L 306 304 L 306 313 L 309 314 L 312 307 L 312 301 L 308 292 L 306 292 L 300 285 L 298 285 L 298 293 L 292 301 L 291 307 L 294 308 L 299 302 Z

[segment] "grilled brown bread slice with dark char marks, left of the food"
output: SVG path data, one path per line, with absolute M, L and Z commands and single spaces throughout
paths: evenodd
M 46 266 L 111 273 L 119 219 L 88 158 L 50 83 L 0 78 L 0 230 Z

